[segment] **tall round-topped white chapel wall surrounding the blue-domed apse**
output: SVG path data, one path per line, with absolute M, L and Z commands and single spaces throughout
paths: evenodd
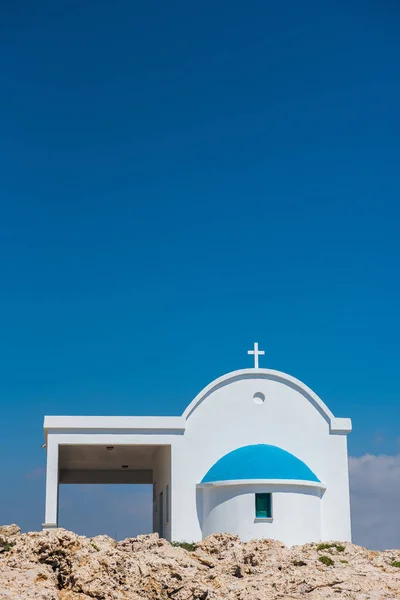
M 263 404 L 254 402 L 257 392 L 265 395 Z M 350 539 L 346 436 L 330 433 L 329 419 L 304 392 L 256 371 L 217 386 L 175 439 L 173 539 L 202 539 L 196 484 L 222 456 L 250 444 L 279 446 L 304 461 L 327 486 L 321 538 Z

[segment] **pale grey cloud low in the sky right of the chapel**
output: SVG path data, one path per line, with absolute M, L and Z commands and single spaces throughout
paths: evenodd
M 400 548 L 400 454 L 350 457 L 349 467 L 354 543 Z

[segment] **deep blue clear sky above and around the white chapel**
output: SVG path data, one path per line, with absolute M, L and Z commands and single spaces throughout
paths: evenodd
M 254 340 L 353 419 L 352 456 L 398 457 L 399 23 L 391 1 L 0 9 L 0 521 L 43 520 L 44 414 L 180 414 Z M 143 492 L 121 490 L 93 530 Z

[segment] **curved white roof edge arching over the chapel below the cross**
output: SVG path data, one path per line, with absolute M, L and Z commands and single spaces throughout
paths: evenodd
M 274 369 L 239 369 L 238 371 L 231 371 L 230 373 L 218 377 L 218 379 L 214 379 L 214 381 L 209 383 L 199 394 L 197 394 L 183 412 L 182 417 L 187 421 L 196 408 L 216 389 L 228 385 L 235 380 L 257 378 L 280 381 L 299 391 L 329 423 L 330 431 L 332 433 L 349 433 L 351 431 L 351 419 L 340 419 L 335 417 L 321 398 L 317 396 L 311 388 L 305 385 L 305 383 L 287 373 L 275 371 Z

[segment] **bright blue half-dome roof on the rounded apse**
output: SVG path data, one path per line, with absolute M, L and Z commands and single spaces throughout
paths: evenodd
M 243 446 L 225 454 L 203 477 L 201 483 L 240 479 L 288 479 L 315 481 L 318 477 L 290 452 L 277 446 Z

